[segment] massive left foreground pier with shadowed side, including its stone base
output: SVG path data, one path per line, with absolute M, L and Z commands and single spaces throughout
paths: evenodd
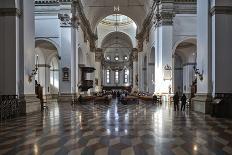
M 30 76 L 35 69 L 34 2 L 2 0 L 0 31 L 0 95 L 19 95 L 25 103 L 23 113 L 39 111 Z

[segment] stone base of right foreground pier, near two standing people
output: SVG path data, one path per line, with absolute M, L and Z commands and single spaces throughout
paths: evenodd
M 212 111 L 212 96 L 209 94 L 197 94 L 192 98 L 192 110 L 204 114 L 210 114 Z

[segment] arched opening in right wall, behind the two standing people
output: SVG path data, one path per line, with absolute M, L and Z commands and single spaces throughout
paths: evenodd
M 197 57 L 196 38 L 184 38 L 174 46 L 174 91 L 185 93 L 189 97 L 193 95 L 192 87 L 195 85 L 196 77 L 193 67 L 196 65 Z M 194 91 L 195 92 L 195 91 Z

